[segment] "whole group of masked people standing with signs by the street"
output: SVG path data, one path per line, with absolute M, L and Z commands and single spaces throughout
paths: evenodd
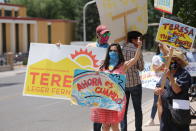
M 107 54 L 105 60 L 100 66 L 99 70 L 108 73 L 117 73 L 126 75 L 125 95 L 126 103 L 122 111 L 112 111 L 100 108 L 91 109 L 91 119 L 94 122 L 94 131 L 109 131 L 112 128 L 113 131 L 127 131 L 127 111 L 129 106 L 129 100 L 131 97 L 133 108 L 135 112 L 135 130 L 142 131 L 142 84 L 139 76 L 139 72 L 144 69 L 144 60 L 142 56 L 142 34 L 138 31 L 130 31 L 127 33 L 127 41 L 120 46 L 118 43 L 108 44 L 110 38 L 110 31 L 104 25 L 99 25 L 96 28 L 97 42 L 89 44 L 87 47 L 100 47 L 107 48 Z M 157 87 L 154 90 L 154 103 L 151 113 L 151 121 L 147 125 L 153 125 L 153 119 L 157 110 L 158 96 L 162 103 L 162 111 L 160 114 L 160 131 L 189 131 L 190 122 L 179 124 L 173 119 L 173 110 L 176 108 L 174 104 L 185 107 L 188 103 L 188 90 L 191 86 L 191 76 L 184 69 L 188 64 L 185 56 L 174 50 L 171 57 L 171 64 L 167 69 L 165 63 L 169 60 L 167 57 L 172 49 L 160 44 L 157 55 L 153 57 L 153 68 L 155 72 L 165 72 L 163 76 L 166 76 L 166 83 L 162 83 L 164 77 L 160 78 L 157 83 Z M 163 85 L 163 88 L 161 84 Z M 181 102 L 179 102 L 181 101 Z M 185 109 L 185 110 L 186 110 Z M 183 109 L 180 109 L 183 110 Z M 188 110 L 189 111 L 189 110 Z M 102 115 L 103 118 L 99 120 L 98 116 Z M 187 114 L 186 114 L 187 115 Z M 188 116 L 187 117 L 188 120 Z M 115 120 L 115 121 L 114 121 Z M 119 129 L 120 127 L 120 129 Z

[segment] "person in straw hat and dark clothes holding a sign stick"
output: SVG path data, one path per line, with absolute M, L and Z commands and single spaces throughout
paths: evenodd
M 188 90 L 191 86 L 191 76 L 184 67 L 188 64 L 182 52 L 174 50 L 169 69 L 166 69 L 166 84 L 164 88 L 155 88 L 156 95 L 161 95 L 163 112 L 160 120 L 160 131 L 189 131 L 189 124 L 179 124 L 172 117 L 172 109 L 189 111 Z M 161 85 L 161 81 L 158 83 Z M 175 106 L 178 105 L 178 106 Z M 182 121 L 190 117 L 188 113 Z M 188 123 L 188 122 L 187 122 Z

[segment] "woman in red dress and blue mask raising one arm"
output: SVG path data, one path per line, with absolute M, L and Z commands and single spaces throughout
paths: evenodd
M 109 45 L 105 60 L 100 66 L 99 71 L 114 74 L 125 74 L 127 69 L 132 67 L 139 59 L 141 55 L 141 46 L 142 42 L 138 39 L 138 48 L 135 56 L 125 61 L 120 45 L 117 43 Z M 102 123 L 103 131 L 109 131 L 110 127 L 113 131 L 119 131 L 118 124 L 124 117 L 124 110 L 118 112 L 101 108 L 92 108 L 91 116 L 92 121 Z M 99 116 L 101 116 L 102 119 L 99 119 Z

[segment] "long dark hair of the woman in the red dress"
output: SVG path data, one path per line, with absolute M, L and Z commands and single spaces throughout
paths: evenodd
M 114 69 L 116 69 L 120 64 L 124 63 L 125 62 L 125 59 L 123 57 L 123 53 L 122 53 L 122 50 L 121 50 L 121 47 L 118 43 L 112 43 L 111 45 L 109 45 L 108 49 L 107 49 L 107 53 L 106 53 L 106 57 L 105 57 L 105 60 L 103 62 L 103 64 L 100 66 L 100 69 L 106 69 L 108 70 L 108 67 L 109 67 L 109 61 L 110 61 L 110 56 L 109 56 L 109 52 L 110 52 L 110 49 L 112 46 L 116 46 L 117 48 L 117 51 L 118 51 L 118 56 L 119 56 L 119 61 L 118 61 L 118 64 L 114 67 Z M 113 69 L 113 70 L 114 70 Z

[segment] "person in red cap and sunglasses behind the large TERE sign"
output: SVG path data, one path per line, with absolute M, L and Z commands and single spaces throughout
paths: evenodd
M 105 25 L 99 25 L 96 28 L 96 36 L 97 42 L 88 44 L 87 47 L 101 47 L 101 48 L 108 48 L 108 40 L 110 38 L 110 31 L 107 29 Z

